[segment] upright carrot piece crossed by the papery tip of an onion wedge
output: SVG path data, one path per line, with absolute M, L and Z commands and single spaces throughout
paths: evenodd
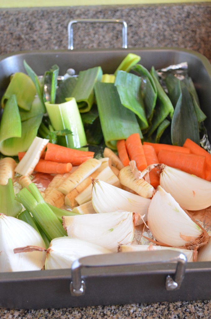
M 152 145 L 143 145 L 143 150 L 146 157 L 147 165 L 159 163 L 157 154 Z M 149 172 L 149 182 L 154 188 L 156 188 L 160 184 L 158 168 L 155 167 Z

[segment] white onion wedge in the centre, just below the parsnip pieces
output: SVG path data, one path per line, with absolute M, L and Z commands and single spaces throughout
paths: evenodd
M 94 180 L 92 188 L 92 205 L 97 213 L 111 211 L 135 211 L 143 216 L 137 220 L 136 225 L 147 221 L 147 211 L 150 203 L 149 198 L 132 194 L 103 181 Z

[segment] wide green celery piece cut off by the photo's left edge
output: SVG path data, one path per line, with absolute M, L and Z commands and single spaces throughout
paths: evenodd
M 0 211 L 12 217 L 17 217 L 22 211 L 22 205 L 15 200 L 11 178 L 6 185 L 0 185 Z

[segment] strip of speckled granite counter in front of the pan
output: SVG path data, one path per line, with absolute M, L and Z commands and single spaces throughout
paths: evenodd
M 211 301 L 207 300 L 40 310 L 0 308 L 1 319 L 210 319 L 210 317 Z

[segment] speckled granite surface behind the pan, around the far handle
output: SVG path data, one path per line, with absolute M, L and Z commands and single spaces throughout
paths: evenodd
M 0 55 L 67 49 L 72 19 L 124 19 L 128 48 L 179 47 L 211 62 L 211 3 L 0 9 Z M 76 24 L 74 48 L 120 48 L 120 24 Z

